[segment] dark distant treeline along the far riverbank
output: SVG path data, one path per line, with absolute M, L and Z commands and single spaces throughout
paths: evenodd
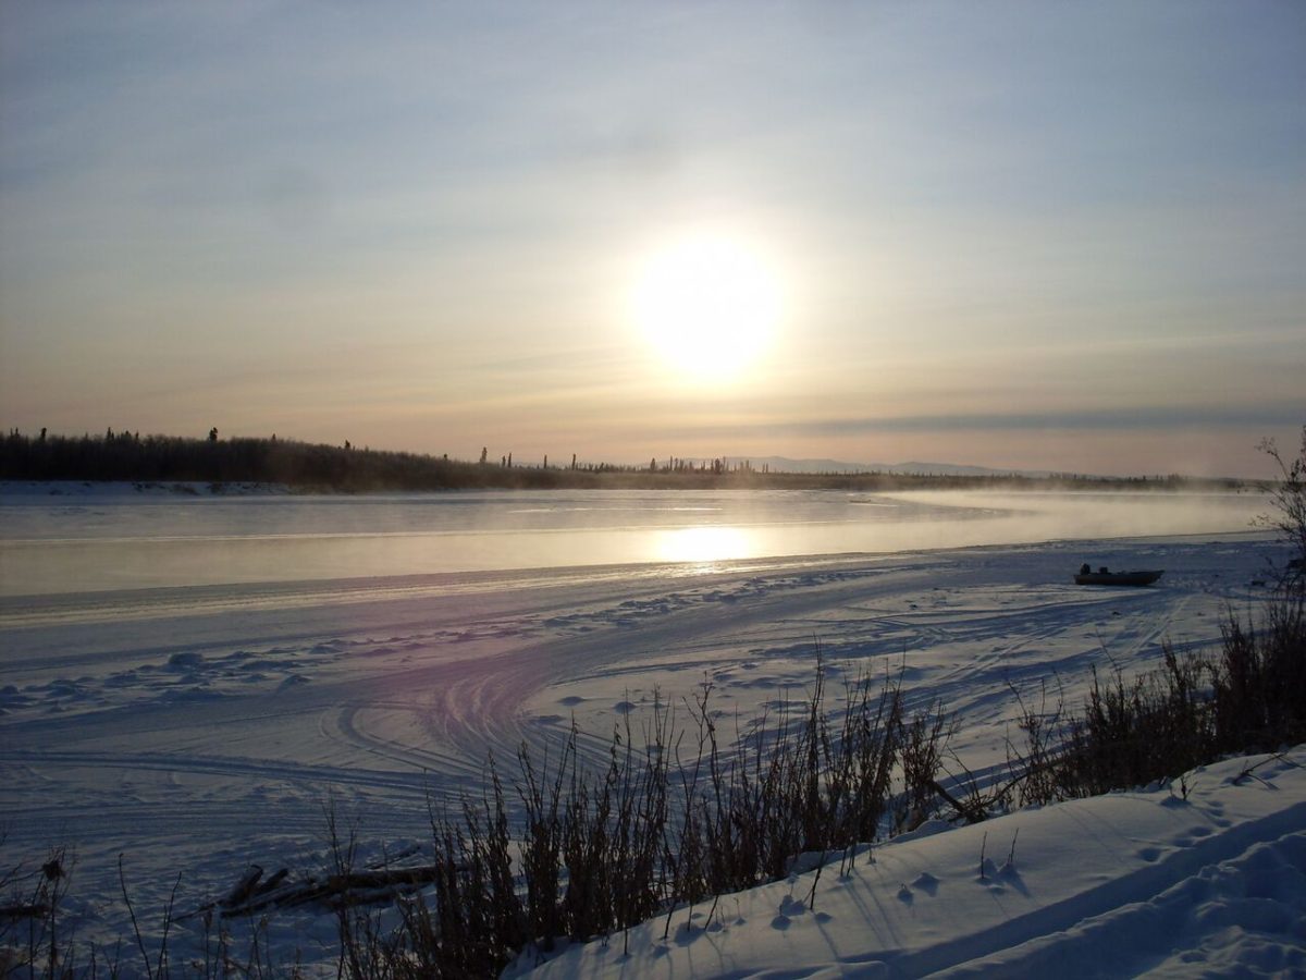
M 827 490 L 926 489 L 1241 489 L 1241 481 L 1179 476 L 1098 478 L 1076 474 L 913 476 L 900 473 L 774 473 L 748 463 L 650 460 L 644 466 L 609 463 L 515 464 L 512 455 L 451 460 L 411 452 L 324 446 L 293 439 L 206 439 L 146 435 L 112 429 L 103 435 L 25 435 L 0 442 L 0 480 L 127 481 L 136 483 L 279 483 L 302 491 L 546 490 L 546 489 L 716 489 L 773 487 Z

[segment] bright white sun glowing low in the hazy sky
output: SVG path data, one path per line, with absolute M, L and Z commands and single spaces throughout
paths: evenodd
M 771 345 L 781 312 L 780 277 L 743 238 L 693 233 L 643 263 L 633 316 L 652 346 L 692 379 L 733 379 Z

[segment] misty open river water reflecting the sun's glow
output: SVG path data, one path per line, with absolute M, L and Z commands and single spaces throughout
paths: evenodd
M 1067 538 L 1249 531 L 1256 494 L 529 491 L 178 497 L 10 486 L 0 596 L 768 563 Z M 624 574 L 639 574 L 631 568 Z M 503 579 L 520 578 L 512 575 Z M 434 587 L 434 585 L 431 585 Z M 9 601 L 10 612 L 16 604 Z

